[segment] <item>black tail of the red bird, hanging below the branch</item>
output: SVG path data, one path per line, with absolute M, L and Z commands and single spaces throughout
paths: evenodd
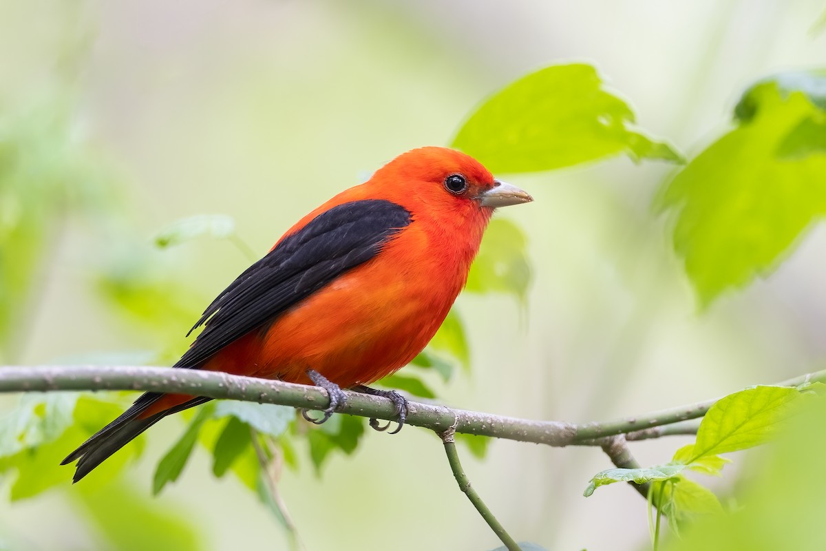
M 178 413 L 178 411 L 186 410 L 192 406 L 197 406 L 211 398 L 207 397 L 192 397 L 188 401 L 179 403 L 175 406 L 157 410 L 157 402 L 162 401 L 165 395 L 160 392 L 146 392 L 140 398 L 135 400 L 135 403 L 116 420 L 97 431 L 97 434 L 80 444 L 78 449 L 66 456 L 60 463 L 65 465 L 77 460 L 78 464 L 74 472 L 73 482 L 78 482 L 88 473 L 96 468 L 97 465 L 103 463 L 109 456 L 114 454 L 118 449 L 135 439 L 144 430 L 163 419 L 165 416 Z M 152 407 L 155 405 L 155 407 Z M 151 408 L 151 409 L 150 409 Z M 142 415 L 143 414 L 143 415 Z

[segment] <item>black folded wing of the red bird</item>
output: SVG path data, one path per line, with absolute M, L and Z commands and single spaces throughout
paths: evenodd
M 378 199 L 322 212 L 247 268 L 207 306 L 189 332 L 200 325 L 204 330 L 174 367 L 199 367 L 233 340 L 372 259 L 410 223 L 406 208 Z

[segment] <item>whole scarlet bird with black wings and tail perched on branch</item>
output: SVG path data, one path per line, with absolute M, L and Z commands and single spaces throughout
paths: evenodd
M 379 394 L 396 404 L 401 429 L 405 399 L 364 385 L 425 348 L 468 279 L 494 209 L 529 201 L 458 151 L 401 154 L 304 216 L 230 283 L 173 367 L 312 382 L 330 396 L 316 423 L 343 404 L 340 387 Z M 78 460 L 77 482 L 163 417 L 210 400 L 146 392 L 62 464 Z

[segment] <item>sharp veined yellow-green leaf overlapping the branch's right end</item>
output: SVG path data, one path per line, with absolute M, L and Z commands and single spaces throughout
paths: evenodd
M 790 387 L 753 387 L 734 392 L 705 414 L 693 449 L 677 453 L 682 452 L 684 463 L 694 463 L 710 455 L 763 444 L 792 416 L 792 403 L 799 397 L 800 392 Z

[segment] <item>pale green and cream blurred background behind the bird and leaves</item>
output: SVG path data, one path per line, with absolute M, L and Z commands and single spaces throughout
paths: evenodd
M 78 189 L 79 198 L 55 200 L 38 188 L 42 205 L 51 205 L 44 212 L 61 214 L 44 215 L 49 223 L 36 242 L 48 254 L 33 272 L 36 297 L 11 324 L 16 338 L 3 357 L 136 361 L 180 335 L 164 350 L 173 355 L 187 344 L 192 312 L 249 260 L 225 240 L 153 249 L 159 230 L 183 216 L 223 213 L 263 254 L 299 216 L 396 154 L 449 144 L 485 97 L 547 64 L 596 64 L 641 126 L 694 154 L 729 127 L 749 83 L 824 64 L 826 33 L 813 30 L 824 9 L 819 0 L 3 0 L 4 135 L 31 130 L 26 147 L 45 144 L 43 159 L 55 140 L 64 157 L 54 166 L 95 182 Z M 508 178 L 535 198 L 497 215 L 528 235 L 533 283 L 525 305 L 460 297 L 472 373 L 434 382 L 444 402 L 601 420 L 819 365 L 824 228 L 809 232 L 770 278 L 701 311 L 672 252 L 669 221 L 651 207 L 672 170 L 617 158 Z M 21 251 L 5 253 L 2 262 L 26 264 Z M 157 283 L 149 294 L 131 284 L 135 273 Z M 151 293 L 164 288 L 178 294 L 163 297 L 175 307 L 159 317 Z M 119 314 L 112 304 L 124 301 L 146 302 L 153 322 Z M 13 403 L 2 397 L 0 408 Z M 131 468 L 139 492 L 150 492 L 154 464 L 181 430 L 178 420 L 154 430 Z M 677 445 L 640 443 L 634 452 L 640 463 L 662 463 Z M 548 549 L 647 542 L 644 502 L 631 488 L 582 497 L 588 479 L 610 466 L 597 449 L 497 441 L 487 459 L 465 462 L 517 539 Z M 106 549 L 71 492 L 0 503 L 3 544 Z M 369 434 L 320 478 L 305 458 L 284 473 L 281 492 L 306 549 L 498 544 L 458 492 L 439 440 L 424 430 Z M 202 549 L 286 548 L 272 515 L 231 477 L 214 479 L 202 451 L 155 506 L 191 525 Z

